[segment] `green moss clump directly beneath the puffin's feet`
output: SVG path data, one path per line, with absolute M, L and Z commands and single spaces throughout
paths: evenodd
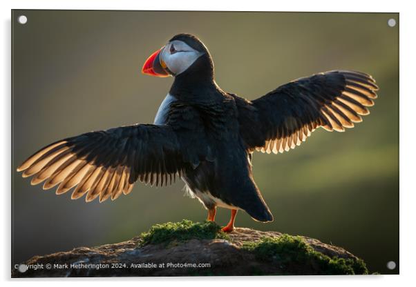
M 140 236 L 140 246 L 146 244 L 175 244 L 189 239 L 227 239 L 229 236 L 212 221 L 196 222 L 183 219 L 180 222 L 156 224 Z

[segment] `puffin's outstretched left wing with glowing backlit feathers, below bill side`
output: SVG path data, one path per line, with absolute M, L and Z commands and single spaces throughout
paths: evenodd
M 42 148 L 17 171 L 33 176 L 31 184 L 44 183 L 44 189 L 59 184 L 57 194 L 77 186 L 73 199 L 86 195 L 86 201 L 116 199 L 131 192 L 133 184 L 171 184 L 187 163 L 180 141 L 170 126 L 137 124 L 110 130 L 88 132 Z

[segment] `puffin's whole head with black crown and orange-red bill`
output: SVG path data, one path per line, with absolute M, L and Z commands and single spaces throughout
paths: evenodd
M 156 77 L 188 73 L 213 77 L 214 64 L 200 39 L 191 34 L 177 34 L 144 62 L 142 72 Z

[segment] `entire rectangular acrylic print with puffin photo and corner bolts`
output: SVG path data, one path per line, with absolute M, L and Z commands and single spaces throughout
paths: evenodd
M 12 277 L 398 274 L 398 155 L 398 13 L 12 10 Z

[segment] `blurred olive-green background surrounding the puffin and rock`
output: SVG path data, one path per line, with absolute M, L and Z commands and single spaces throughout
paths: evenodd
M 362 257 L 370 272 L 399 262 L 399 29 L 391 13 L 12 12 L 12 263 L 130 239 L 151 225 L 207 212 L 177 184 L 136 184 L 129 196 L 86 204 L 30 186 L 15 168 L 42 146 L 90 130 L 153 122 L 172 79 L 140 74 L 174 34 L 196 34 L 216 81 L 255 99 L 292 79 L 350 69 L 377 80 L 371 114 L 346 132 L 317 130 L 281 155 L 254 155 L 254 177 L 274 214 L 236 226 L 315 237 Z M 17 17 L 28 17 L 25 25 Z M 217 212 L 226 224 L 229 210 Z

